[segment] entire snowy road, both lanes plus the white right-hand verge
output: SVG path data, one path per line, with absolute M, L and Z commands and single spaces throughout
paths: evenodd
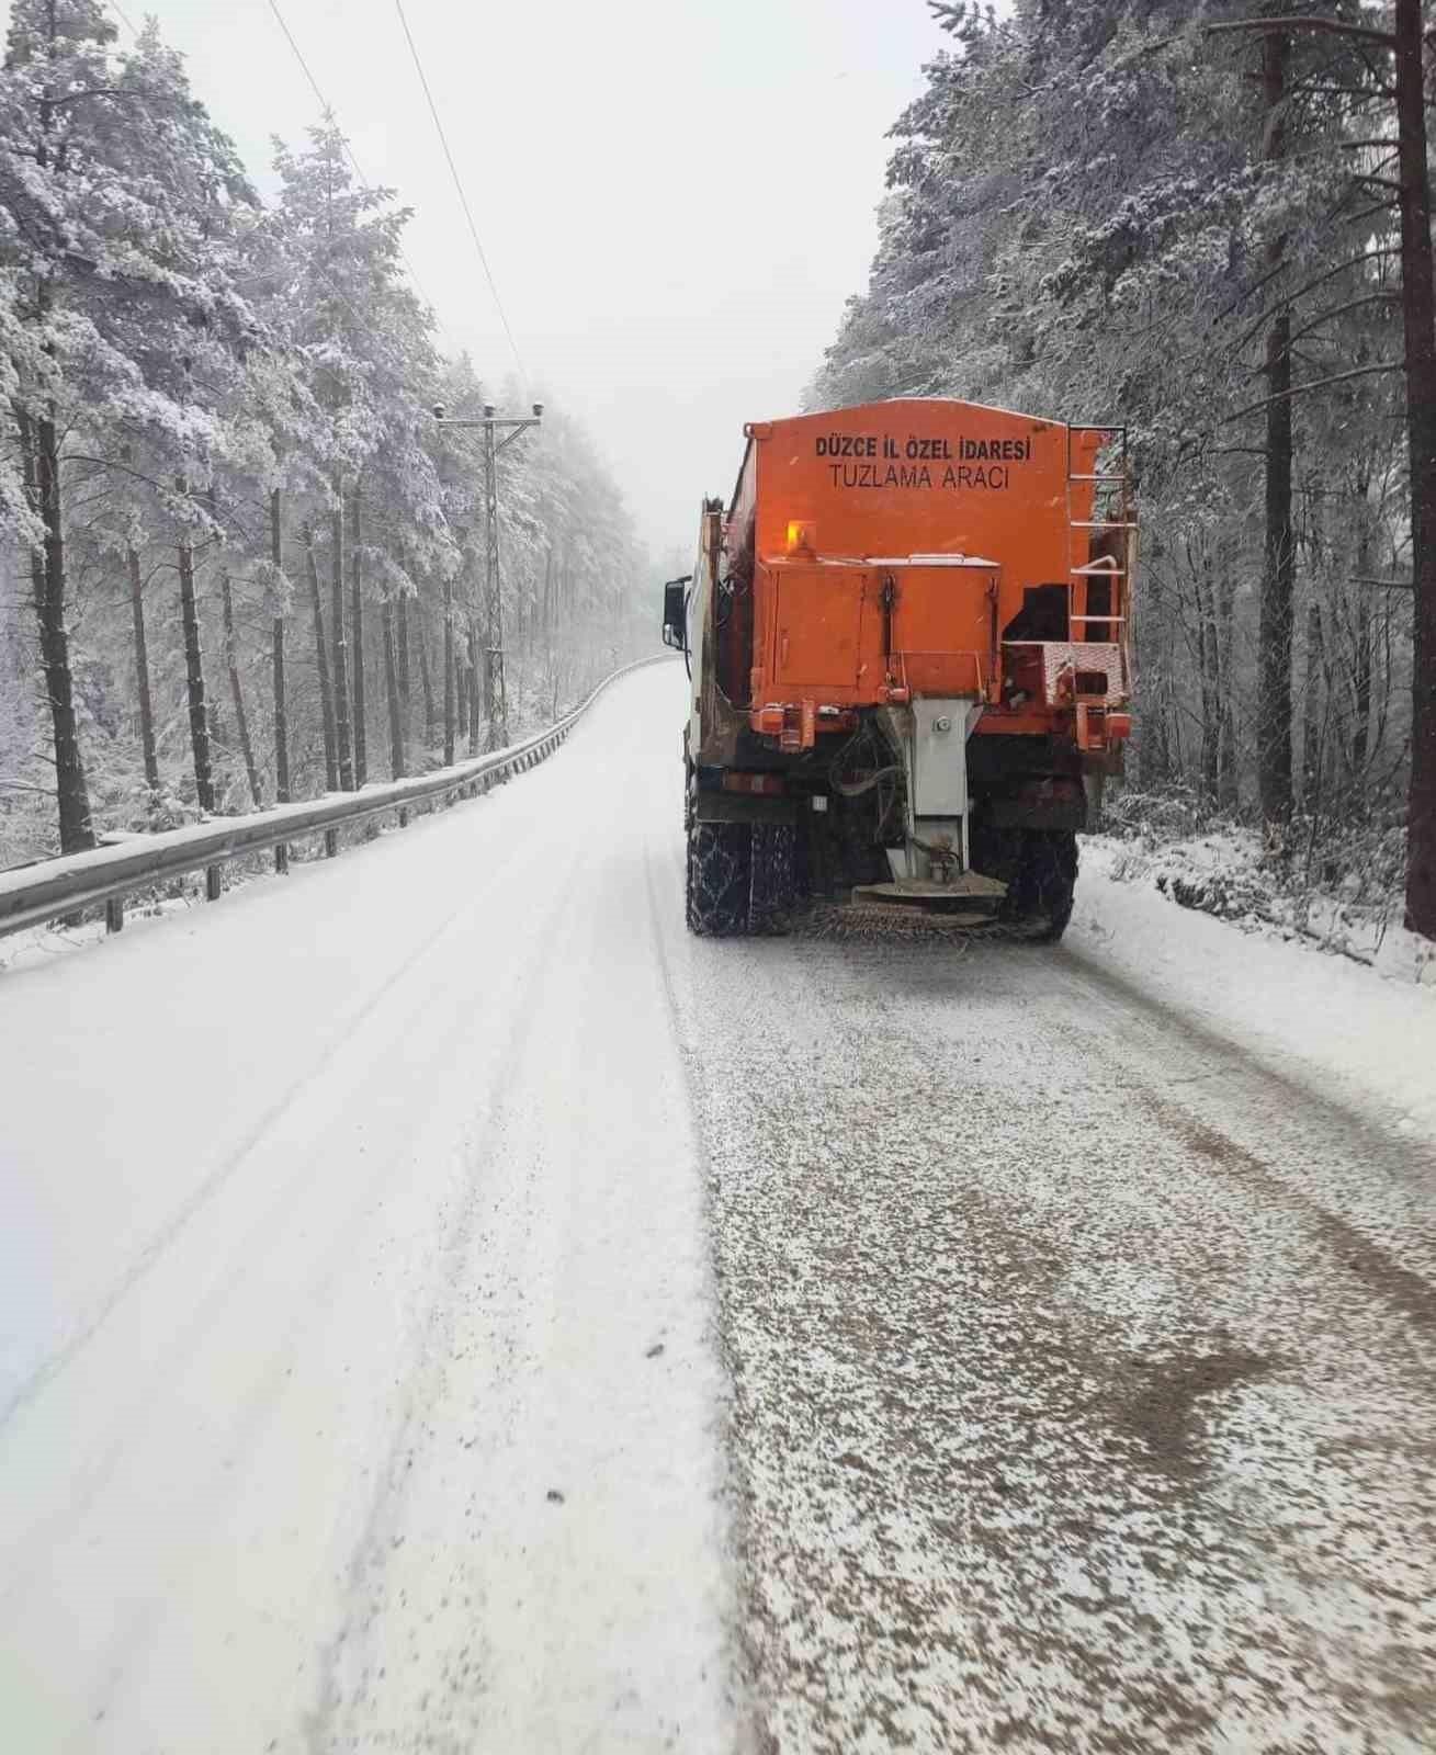
M 679 718 L 0 974 L 0 1746 L 1429 1750 L 1432 997 L 690 941 Z

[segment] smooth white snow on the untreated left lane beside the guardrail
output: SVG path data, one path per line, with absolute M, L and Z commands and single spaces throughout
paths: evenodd
M 5 1750 L 722 1744 L 671 693 L 5 972 Z

